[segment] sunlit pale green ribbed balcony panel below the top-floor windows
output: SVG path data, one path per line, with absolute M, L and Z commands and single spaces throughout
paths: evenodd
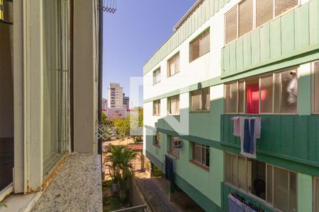
M 312 0 L 230 42 L 221 51 L 222 78 L 300 64 L 295 56 L 314 60 L 319 48 L 318 13 L 319 1 Z

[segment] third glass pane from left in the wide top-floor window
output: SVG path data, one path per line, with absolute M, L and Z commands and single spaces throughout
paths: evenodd
M 256 0 L 256 27 L 263 25 L 274 17 L 273 0 Z

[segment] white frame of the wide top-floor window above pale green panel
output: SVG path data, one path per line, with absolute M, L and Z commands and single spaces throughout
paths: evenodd
M 276 0 L 272 0 L 273 1 L 273 16 L 272 16 L 272 19 L 268 20 L 266 23 L 263 23 L 262 25 L 259 25 L 258 27 L 256 27 L 256 16 L 257 16 L 257 3 L 256 1 L 257 0 L 253 0 L 253 6 L 252 6 L 252 31 L 246 33 L 245 35 L 241 35 L 239 36 L 239 5 L 242 4 L 243 1 L 246 1 L 246 0 L 241 0 L 238 4 L 236 4 L 235 6 L 233 6 L 232 8 L 230 8 L 230 10 L 225 13 L 224 15 L 224 25 L 225 25 L 225 31 L 224 31 L 224 46 L 232 43 L 232 42 L 235 42 L 235 40 L 237 40 L 238 38 L 240 37 L 244 37 L 245 35 L 251 33 L 253 30 L 256 30 L 257 28 L 262 28 L 264 25 L 266 25 L 267 23 L 271 22 L 272 20 L 274 20 L 275 18 L 277 17 L 280 17 L 280 16 L 284 16 L 286 13 L 289 13 L 289 11 L 292 11 L 294 8 L 297 8 L 298 6 L 301 6 L 301 0 L 298 0 L 298 3 L 296 6 L 294 6 L 293 8 L 290 8 L 289 10 L 285 11 L 284 13 L 281 13 L 280 15 L 276 16 Z M 235 38 L 235 40 L 232 40 L 230 42 L 227 42 L 226 43 L 226 18 L 225 16 L 233 9 L 233 8 L 236 8 L 237 7 L 237 37 Z

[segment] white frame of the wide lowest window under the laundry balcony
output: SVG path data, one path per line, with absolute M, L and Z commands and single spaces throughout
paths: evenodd
M 227 151 L 224 151 L 224 163 L 225 163 L 225 161 L 226 161 L 227 155 L 235 155 L 235 156 L 236 156 L 236 166 L 237 166 L 236 170 L 237 170 L 237 173 L 238 173 L 238 156 L 242 156 L 242 155 L 237 155 L 237 154 L 234 154 L 234 153 L 229 153 L 229 152 L 227 152 Z M 242 157 L 245 158 L 246 185 L 248 186 L 248 179 L 252 180 L 252 177 L 248 176 L 248 169 L 247 169 L 248 158 L 245 157 L 245 156 L 242 156 Z M 254 159 L 252 159 L 252 160 L 254 160 Z M 262 161 L 260 161 L 260 162 L 262 162 Z M 264 162 L 262 162 L 262 163 L 264 163 Z M 279 166 L 272 165 L 272 164 L 269 164 L 269 163 L 264 163 L 264 164 L 265 164 L 265 167 L 266 167 L 266 169 L 265 169 L 265 177 L 266 177 L 266 181 L 265 181 L 265 189 L 266 189 L 266 191 L 265 191 L 265 199 L 261 199 L 261 198 L 259 198 L 258 196 L 255 196 L 254 194 L 252 194 L 252 193 L 249 191 L 249 189 L 248 189 L 247 187 L 246 187 L 245 190 L 240 189 L 240 187 L 238 187 L 238 176 L 237 176 L 236 185 L 231 184 L 230 182 L 227 182 L 227 181 L 226 181 L 226 166 L 224 167 L 224 183 L 225 183 L 225 184 L 228 184 L 228 186 L 230 186 L 230 187 L 233 187 L 233 188 L 239 190 L 240 192 L 242 192 L 242 193 L 244 193 L 244 194 L 247 194 L 248 196 L 251 196 L 253 199 L 256 199 L 257 201 L 262 202 L 262 204 L 264 204 L 264 205 L 266 205 L 266 206 L 268 206 L 268 207 L 270 207 L 270 208 L 274 208 L 274 189 L 275 189 L 275 187 L 274 187 L 274 167 L 277 167 L 277 168 L 279 168 L 279 169 L 281 169 L 281 170 L 286 170 L 286 171 L 288 172 L 288 174 L 289 174 L 288 176 L 290 176 L 290 172 L 293 172 L 293 173 L 296 174 L 296 197 L 298 198 L 298 173 L 297 173 L 297 172 L 294 172 L 293 170 L 288 170 L 288 169 L 286 169 L 286 168 L 284 168 L 284 167 L 279 167 Z M 268 192 L 268 190 L 267 190 L 267 171 L 268 171 L 268 165 L 270 165 L 270 166 L 272 167 L 272 203 L 269 203 L 269 202 L 267 201 L 267 196 L 268 196 L 268 194 L 267 194 L 267 192 Z M 238 174 L 237 174 L 237 175 L 238 175 Z M 290 191 L 290 189 L 289 189 L 289 184 L 290 184 L 290 183 L 289 183 L 289 179 L 290 179 L 290 178 L 288 177 L 288 179 L 287 179 L 287 180 L 288 180 L 288 191 Z M 252 182 L 250 182 L 250 184 L 252 184 Z M 288 195 L 289 195 L 289 194 L 288 194 Z M 298 202 L 297 202 L 297 208 L 298 208 Z M 274 208 L 274 209 L 276 209 L 276 208 Z M 276 210 L 278 210 L 278 209 L 276 209 Z

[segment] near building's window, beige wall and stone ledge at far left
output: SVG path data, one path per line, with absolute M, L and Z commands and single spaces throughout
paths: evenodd
M 0 1 L 0 211 L 102 210 L 99 8 Z

